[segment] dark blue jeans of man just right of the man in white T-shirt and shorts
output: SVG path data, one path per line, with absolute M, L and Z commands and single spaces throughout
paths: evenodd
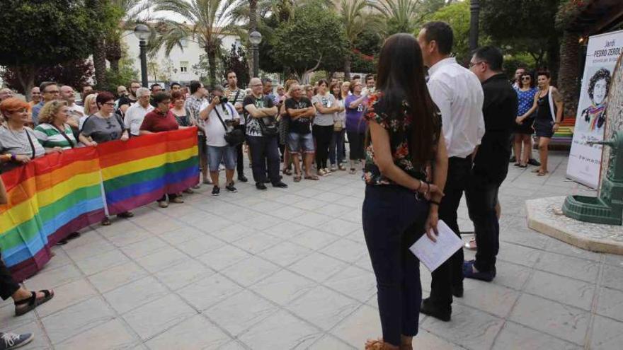
M 251 150 L 251 168 L 255 182 L 268 182 L 266 179 L 266 166 L 268 164 L 268 177 L 270 182 L 279 182 L 279 148 L 277 136 L 246 136 L 248 148 Z

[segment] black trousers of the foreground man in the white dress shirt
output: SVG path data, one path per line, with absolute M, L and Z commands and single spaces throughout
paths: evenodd
M 471 177 L 471 157 L 448 159 L 447 180 L 439 206 L 439 218 L 447 226 L 452 228 L 457 235 L 459 223 L 457 222 L 457 209 L 461 203 L 463 192 L 467 189 Z M 441 264 L 433 271 L 433 280 L 430 282 L 430 299 L 442 308 L 452 304 L 452 286 L 460 286 L 463 283 L 463 250 L 459 249 L 450 259 Z

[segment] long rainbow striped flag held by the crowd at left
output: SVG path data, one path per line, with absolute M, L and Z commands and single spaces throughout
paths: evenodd
M 198 183 L 195 128 L 75 148 L 2 174 L 0 251 L 21 281 L 50 260 L 69 233 Z

